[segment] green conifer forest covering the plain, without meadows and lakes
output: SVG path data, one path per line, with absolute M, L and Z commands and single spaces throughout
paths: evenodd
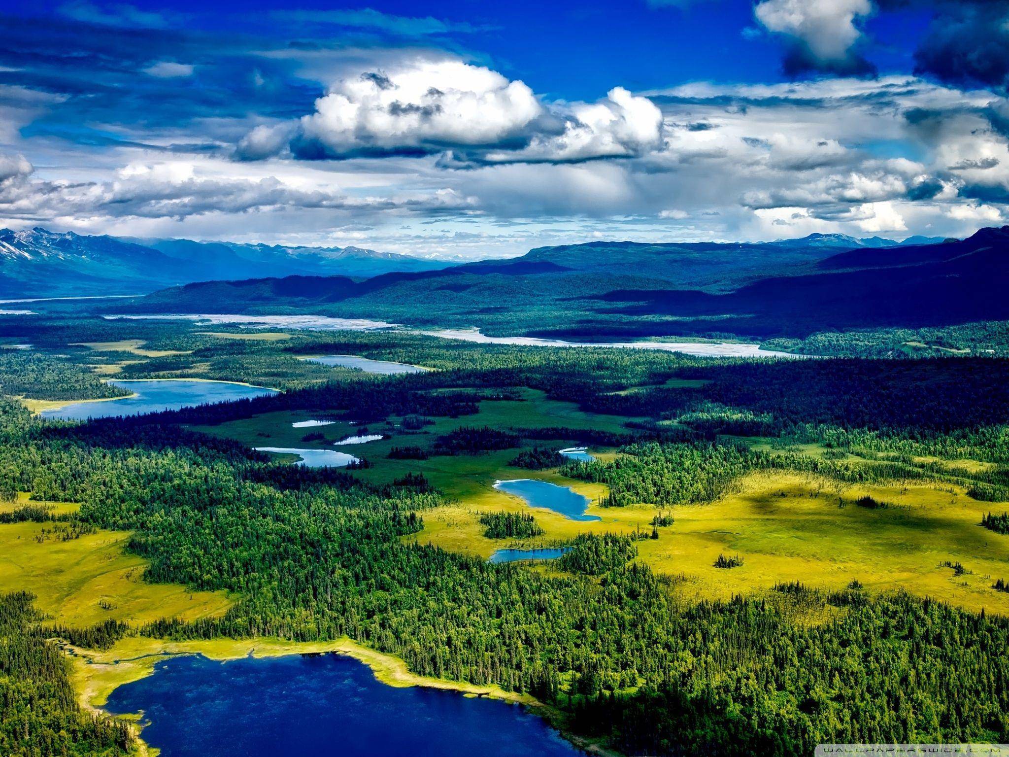
M 148 346 L 185 354 L 137 361 L 130 374 L 214 363 L 214 350 L 224 349 L 221 339 L 175 326 L 144 333 Z M 999 614 L 857 583 L 834 590 L 788 583 L 691 601 L 643 559 L 645 544 L 675 538 L 668 530 L 683 508 L 721 501 L 755 472 L 837 486 L 956 485 L 1003 502 L 1009 369 L 998 358 L 705 361 L 339 333 L 241 344 L 231 352 L 240 367 L 214 370 L 251 379 L 287 365 L 291 372 L 276 382 L 287 392 L 86 424 L 42 421 L 16 400 L 0 403 L 0 494 L 12 501 L 27 493 L 31 503 L 10 510 L 8 521 L 47 523 L 53 516 L 40 506 L 79 503 L 73 519 L 52 521 L 67 538 L 79 538 L 72 528 L 129 531 L 128 550 L 148 563 L 144 580 L 236 598 L 222 617 L 81 629 L 58 627 L 24 593 L 4 597 L 4 754 L 131 749 L 121 724 L 80 710 L 62 652 L 46 639 L 107 648 L 134 635 L 347 636 L 419 674 L 532 694 L 570 733 L 628 755 L 1009 741 L 1009 619 Z M 297 355 L 321 351 L 439 369 L 380 379 L 335 370 L 313 383 Z M 85 354 L 11 352 L 0 363 L 5 393 L 24 394 L 30 384 L 38 399 L 93 397 L 88 382 L 97 380 Z M 529 391 L 573 410 L 552 425 L 481 419 L 487 408 L 528 404 Z M 576 410 L 611 418 L 620 430 L 572 428 Z M 367 470 L 308 468 L 190 428 L 320 411 L 394 429 L 391 451 L 368 453 Z M 438 424 L 448 421 L 458 425 L 441 433 Z M 593 462 L 567 461 L 546 443 L 557 440 L 608 451 Z M 598 484 L 605 509 L 645 503 L 650 525 L 578 534 L 550 569 L 488 564 L 417 538 L 453 502 L 424 465 L 473 465 L 493 455 L 517 470 Z M 393 462 L 417 467 L 387 482 L 375 477 Z M 1009 538 L 1002 506 L 989 510 L 975 528 Z M 544 534 L 539 516 L 471 517 L 488 539 Z M 732 568 L 722 572 L 747 569 L 745 557 L 719 555 Z

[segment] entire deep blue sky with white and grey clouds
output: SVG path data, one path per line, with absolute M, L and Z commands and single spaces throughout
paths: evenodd
M 0 9 L 0 226 L 355 245 L 1009 221 L 1009 0 Z

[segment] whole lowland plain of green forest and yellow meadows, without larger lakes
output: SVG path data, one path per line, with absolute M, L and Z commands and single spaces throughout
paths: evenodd
M 380 653 L 625 754 L 1009 738 L 1000 358 L 711 361 L 18 318 L 8 336 L 35 347 L 4 352 L 7 381 L 70 367 L 0 403 L 3 635 L 59 661 L 0 670 L 14 754 L 137 749 L 94 708 L 152 668 L 84 656 L 222 644 Z M 300 359 L 320 353 L 437 370 Z M 102 399 L 110 375 L 285 391 L 32 415 L 30 400 Z M 375 436 L 353 468 L 255 449 Z M 586 444 L 594 459 L 557 452 Z M 23 680 L 57 681 L 59 723 Z

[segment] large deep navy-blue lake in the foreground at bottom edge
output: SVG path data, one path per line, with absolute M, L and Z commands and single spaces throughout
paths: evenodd
M 574 757 L 522 708 L 455 691 L 396 688 L 350 657 L 291 655 L 158 662 L 106 710 L 143 711 L 161 757 Z

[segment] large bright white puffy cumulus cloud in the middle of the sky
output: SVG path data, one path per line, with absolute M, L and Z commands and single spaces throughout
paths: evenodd
M 454 60 L 417 60 L 334 84 L 297 124 L 256 127 L 237 155 L 261 159 L 445 153 L 444 165 L 627 157 L 662 144 L 662 113 L 623 87 L 596 103 L 545 103 L 523 82 Z

